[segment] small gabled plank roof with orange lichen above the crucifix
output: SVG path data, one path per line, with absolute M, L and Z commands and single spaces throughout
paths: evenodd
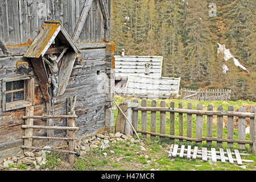
M 67 43 L 73 48 L 76 53 L 80 53 L 79 48 L 72 41 L 67 31 L 60 22 L 57 21 L 45 21 L 43 25 L 43 30 L 40 31 L 39 35 L 35 38 L 34 42 L 28 48 L 24 57 L 35 57 L 38 58 L 43 56 L 44 53 L 51 46 L 55 38 L 62 33 Z

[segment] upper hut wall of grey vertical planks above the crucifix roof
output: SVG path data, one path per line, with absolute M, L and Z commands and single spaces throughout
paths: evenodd
M 110 10 L 110 1 L 105 1 Z M 8 46 L 31 43 L 44 20 L 57 20 L 72 37 L 85 0 L 0 0 L 0 38 Z M 98 0 L 93 0 L 78 42 L 104 40 L 104 18 Z

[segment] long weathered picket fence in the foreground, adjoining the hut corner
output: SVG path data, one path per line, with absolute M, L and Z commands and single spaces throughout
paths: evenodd
M 127 104 L 128 103 L 128 104 Z M 217 147 L 222 147 L 223 142 L 228 142 L 228 147 L 233 147 L 234 143 L 238 143 L 238 149 L 245 149 L 245 144 L 250 144 L 251 148 L 254 147 L 256 140 L 256 119 L 255 119 L 255 107 L 251 107 L 250 113 L 246 113 L 245 107 L 240 107 L 238 111 L 234 111 L 233 106 L 229 106 L 228 111 L 223 110 L 223 106 L 218 106 L 216 111 L 213 110 L 212 105 L 208 105 L 207 110 L 203 110 L 203 105 L 197 105 L 196 110 L 192 109 L 192 104 L 187 105 L 187 109 L 183 109 L 183 104 L 179 104 L 179 108 L 175 108 L 175 103 L 171 102 L 170 107 L 166 107 L 166 102 L 161 101 L 160 107 L 156 107 L 156 101 L 151 102 L 151 107 L 147 107 L 147 100 L 142 100 L 141 106 L 138 106 L 138 100 L 134 100 L 131 104 L 131 98 L 126 99 L 121 105 L 126 104 L 127 118 L 132 121 L 133 126 L 137 133 L 141 133 L 143 138 L 150 135 L 151 139 L 155 139 L 156 136 L 162 138 L 171 138 L 193 141 L 197 144 L 201 144 L 203 141 L 207 141 L 208 145 L 212 145 L 212 141 L 217 142 Z M 141 111 L 141 130 L 138 130 L 138 111 Z M 159 133 L 156 133 L 156 112 L 160 112 L 159 121 Z M 150 112 L 151 123 L 150 131 L 147 130 L 147 112 Z M 166 134 L 166 113 L 170 112 L 170 134 Z M 133 114 L 131 114 L 133 113 Z M 179 113 L 179 135 L 175 135 L 175 113 Z M 187 135 L 184 136 L 183 131 L 183 116 L 187 114 Z M 119 114 L 118 114 L 119 115 Z M 196 117 L 195 133 L 196 137 L 192 138 L 192 117 Z M 207 115 L 207 128 L 203 128 L 203 115 Z M 213 137 L 213 115 L 217 115 L 217 138 Z M 223 138 L 223 117 L 228 116 L 228 136 Z M 238 117 L 238 139 L 234 139 L 234 117 Z M 250 118 L 250 140 L 246 140 L 246 118 Z M 118 121 L 119 122 L 119 119 Z M 125 123 L 125 122 L 124 122 Z M 125 133 L 128 125 L 125 126 Z M 207 137 L 203 137 L 203 130 L 207 130 Z M 254 143 L 254 144 L 253 144 Z

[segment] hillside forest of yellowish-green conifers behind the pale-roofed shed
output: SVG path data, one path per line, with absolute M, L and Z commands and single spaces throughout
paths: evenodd
M 212 16 L 215 3 L 216 16 Z M 112 0 L 116 55 L 163 56 L 165 77 L 182 88 L 232 89 L 232 100 L 255 101 L 254 0 Z M 225 44 L 247 69 L 217 53 Z M 228 71 L 224 72 L 224 65 Z

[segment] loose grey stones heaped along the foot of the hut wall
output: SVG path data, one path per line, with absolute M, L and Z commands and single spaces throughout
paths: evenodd
M 92 149 L 104 150 L 117 142 L 126 142 L 133 145 L 139 143 L 139 140 L 119 132 L 115 134 L 97 134 L 96 136 L 94 135 L 92 137 L 77 140 L 75 150 L 78 151 L 81 156 L 83 156 L 86 155 L 86 152 L 89 152 Z M 45 146 L 44 148 L 46 148 L 45 151 L 24 152 L 23 155 L 16 155 L 11 158 L 6 158 L 2 163 L 0 163 L 0 171 L 21 171 L 24 170 L 20 167 L 22 164 L 26 165 L 26 171 L 47 171 L 48 168 L 42 169 L 42 165 L 46 164 L 46 153 L 51 152 L 47 151 L 47 148 L 51 147 Z M 114 151 L 110 152 L 113 153 Z M 107 154 L 104 152 L 104 155 Z

